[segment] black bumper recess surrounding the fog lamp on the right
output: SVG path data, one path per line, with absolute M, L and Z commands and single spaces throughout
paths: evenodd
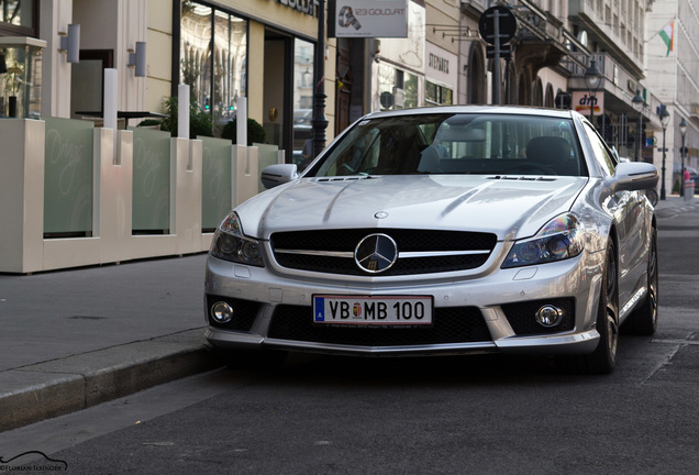
M 536 311 L 545 305 L 558 307 L 563 319 L 556 327 L 546 328 L 536 322 Z M 510 327 L 518 335 L 551 334 L 572 331 L 575 328 L 575 299 L 533 300 L 521 303 L 507 303 L 500 307 Z

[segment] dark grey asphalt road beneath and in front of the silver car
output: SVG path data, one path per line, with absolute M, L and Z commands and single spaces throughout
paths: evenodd
M 295 355 L 275 374 L 217 371 L 5 432 L 0 448 L 69 474 L 695 473 L 697 236 L 699 213 L 662 217 L 658 331 L 622 336 L 612 375 Z

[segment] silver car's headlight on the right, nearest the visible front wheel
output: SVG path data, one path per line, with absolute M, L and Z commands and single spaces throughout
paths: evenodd
M 502 268 L 521 267 L 563 261 L 579 255 L 585 248 L 585 227 L 574 213 L 561 214 L 534 236 L 518 241 Z

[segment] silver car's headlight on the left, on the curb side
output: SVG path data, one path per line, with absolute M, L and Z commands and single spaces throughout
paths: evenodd
M 230 213 L 219 224 L 209 252 L 212 256 L 224 261 L 257 267 L 265 266 L 259 242 L 243 235 L 243 227 L 235 212 Z

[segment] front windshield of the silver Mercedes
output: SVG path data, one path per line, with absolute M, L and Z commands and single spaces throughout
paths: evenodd
M 587 176 L 572 119 L 517 114 L 414 114 L 368 119 L 308 174 Z

